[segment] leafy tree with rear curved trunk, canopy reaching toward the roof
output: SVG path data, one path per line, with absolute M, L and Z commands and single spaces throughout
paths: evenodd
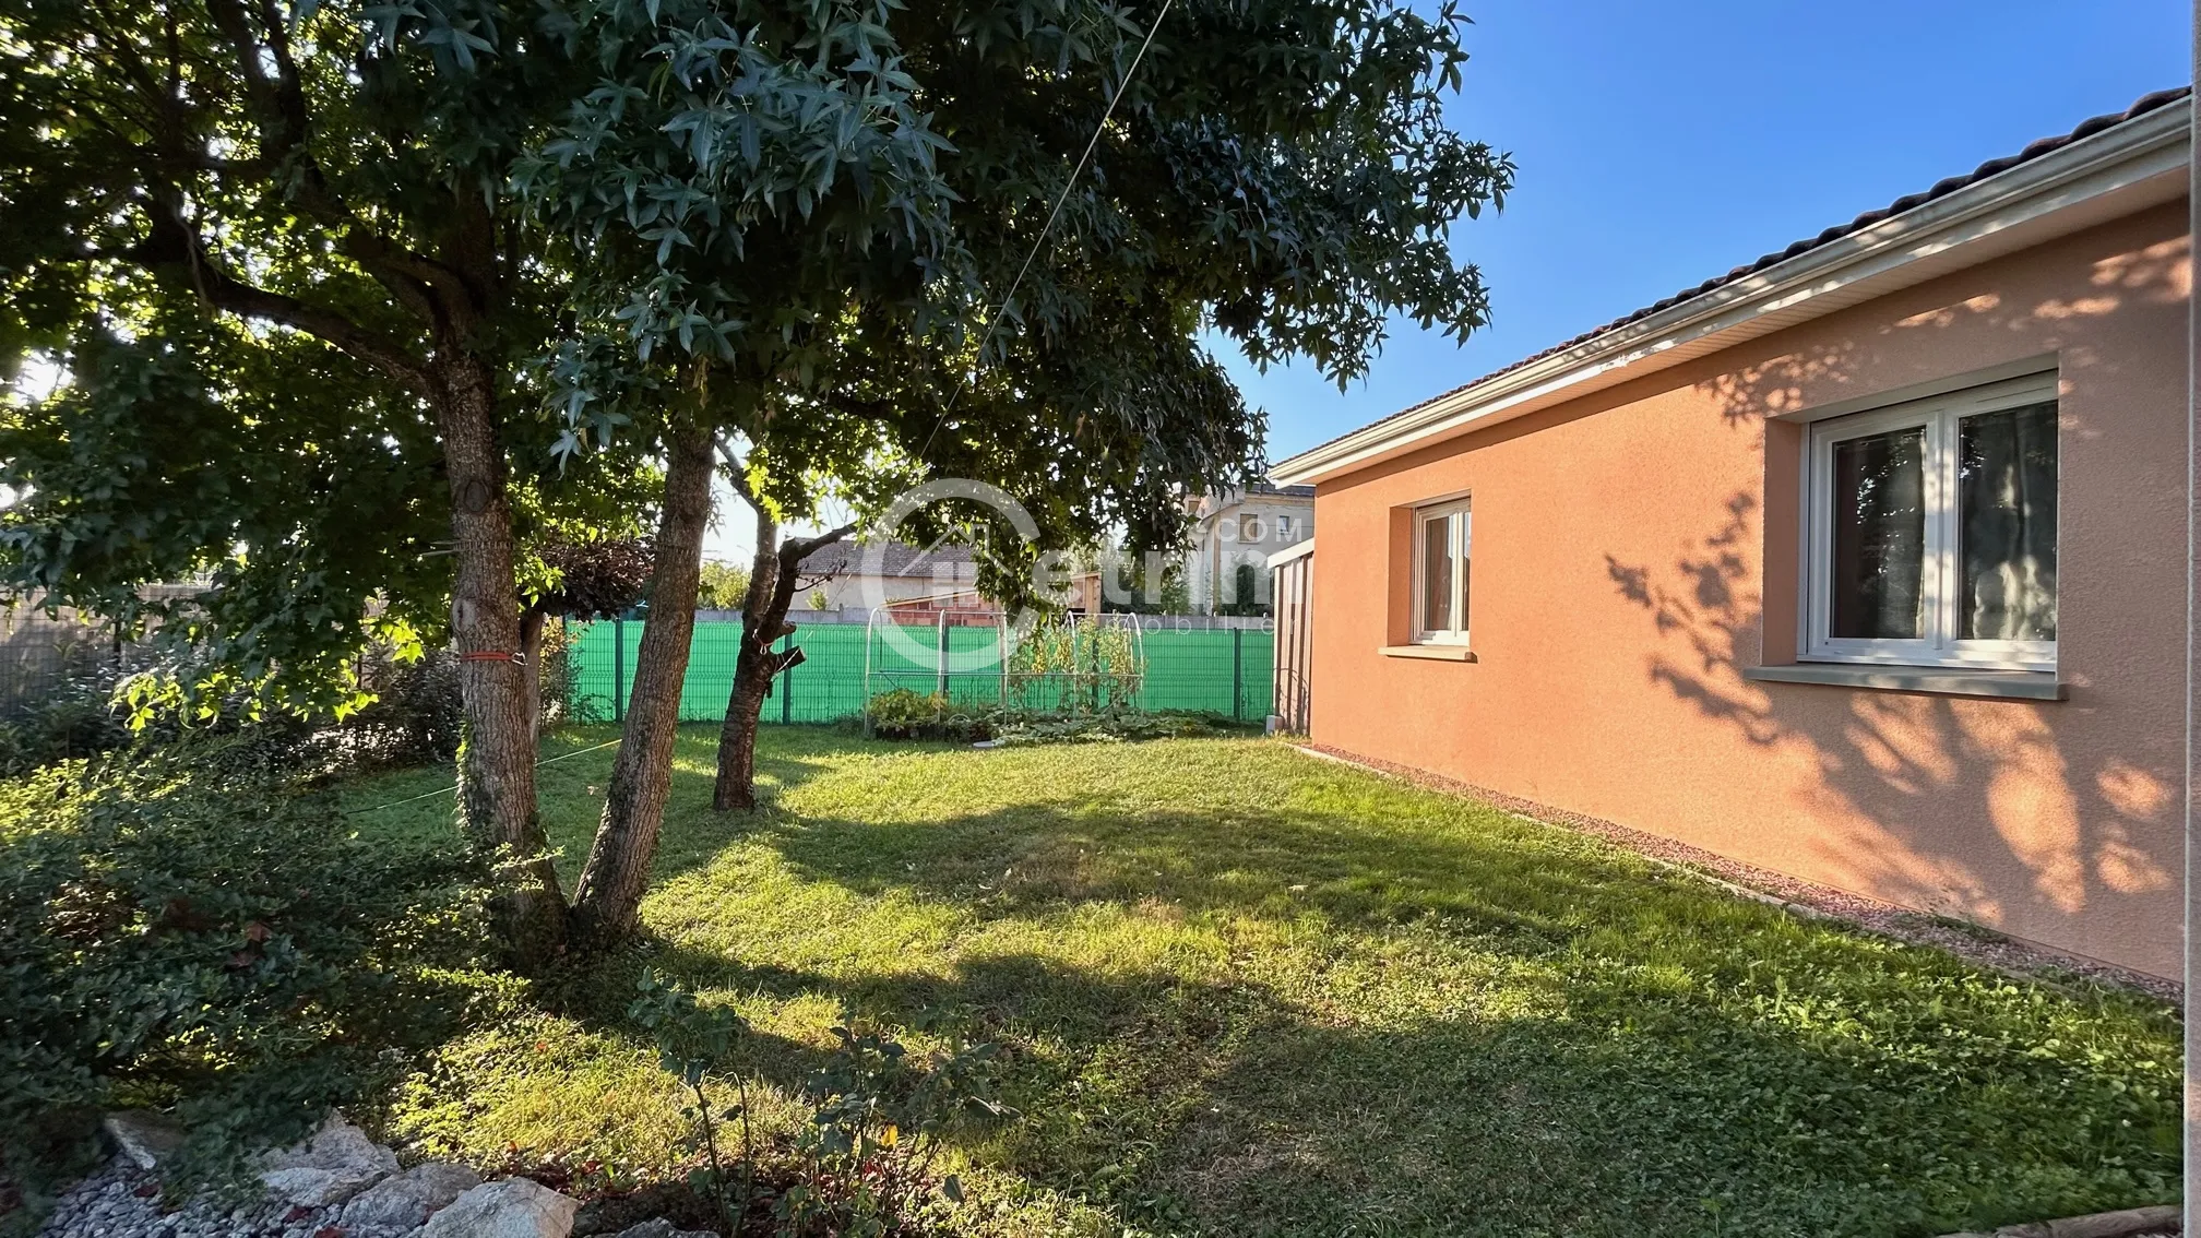
M 1393 313 L 1455 335 L 1483 322 L 1481 280 L 1455 262 L 1448 229 L 1501 203 L 1512 167 L 1442 123 L 1466 59 L 1457 11 L 1248 0 L 1175 13 L 1142 55 L 1140 20 L 1109 4 L 880 4 L 808 29 L 713 24 L 722 7 L 674 4 L 665 64 L 687 95 L 599 93 L 574 126 L 570 141 L 599 152 L 685 143 L 685 161 L 645 161 L 658 207 L 638 227 L 632 209 L 561 189 L 592 236 L 656 238 L 616 311 L 643 355 L 678 344 L 740 370 L 742 341 L 766 344 L 768 381 L 729 421 L 753 445 L 735 471 L 759 502 L 759 540 L 720 806 L 753 802 L 764 685 L 799 656 L 770 650 L 792 632 L 773 582 L 821 542 L 779 544 L 777 524 L 812 518 L 821 493 L 876 513 L 909 478 L 1006 489 L 1039 533 L 982 575 L 1023 599 L 1037 555 L 1109 526 L 1171 544 L 1175 493 L 1255 469 L 1261 423 L 1204 330 L 1259 363 L 1310 357 L 1343 383 Z M 786 46 L 817 48 L 801 86 L 814 108 L 737 106 Z M 839 145 L 806 137 L 768 154 L 759 132 L 810 134 L 803 117 L 836 117 Z M 740 207 L 722 205 L 722 185 L 744 187 Z M 792 194 L 801 231 L 775 218 L 759 284 L 751 220 L 775 194 Z M 1008 293 L 995 306 L 990 291 Z M 757 322 L 764 333 L 740 326 Z

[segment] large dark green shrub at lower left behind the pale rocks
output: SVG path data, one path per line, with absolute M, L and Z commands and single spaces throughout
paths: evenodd
M 0 784 L 0 1154 L 163 1108 L 174 1181 L 392 1084 L 449 1035 L 482 952 L 469 861 L 359 841 L 260 745 L 183 742 Z

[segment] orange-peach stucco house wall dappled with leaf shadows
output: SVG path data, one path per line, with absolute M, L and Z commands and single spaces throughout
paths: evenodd
M 1323 482 L 1314 740 L 2177 974 L 2188 300 L 2179 203 Z M 1781 414 L 2047 352 L 2069 701 L 1741 678 L 1796 641 Z M 1382 656 L 1459 491 L 1479 661 Z

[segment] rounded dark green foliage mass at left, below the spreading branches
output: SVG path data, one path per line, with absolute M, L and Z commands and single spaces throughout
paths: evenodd
M 271 681 L 275 703 L 350 707 L 361 643 L 447 626 L 429 416 L 313 339 L 147 308 L 145 337 L 92 326 L 75 381 L 0 410 L 7 584 L 211 654 L 229 672 L 185 685 L 200 698 Z M 189 597 L 136 588 L 198 577 Z

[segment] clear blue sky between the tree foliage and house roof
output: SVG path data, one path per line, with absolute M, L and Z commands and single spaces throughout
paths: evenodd
M 1860 211 L 2190 77 L 2188 0 L 1466 0 L 1455 130 L 1514 152 L 1503 216 L 1455 253 L 1494 322 L 1400 324 L 1338 394 L 1259 374 L 1281 460 Z

